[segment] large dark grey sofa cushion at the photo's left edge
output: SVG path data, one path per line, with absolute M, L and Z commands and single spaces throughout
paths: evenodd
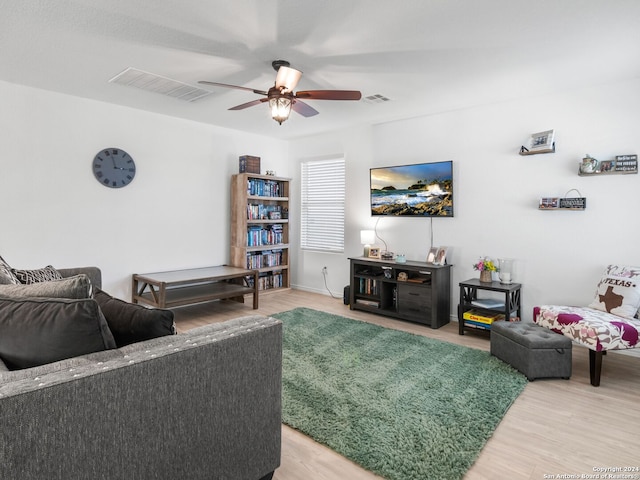
M 12 370 L 115 347 L 93 299 L 0 297 L 0 358 Z

